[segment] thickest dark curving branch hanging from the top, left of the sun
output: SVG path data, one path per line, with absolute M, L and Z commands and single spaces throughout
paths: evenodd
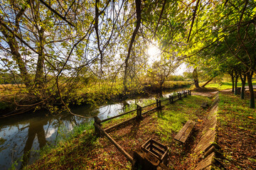
M 142 20 L 141 6 L 142 6 L 141 0 L 136 0 L 136 14 L 137 14 L 136 28 L 132 34 L 132 39 L 131 39 L 131 42 L 129 43 L 127 57 L 124 61 L 124 64 L 125 64 L 125 66 L 124 66 L 124 81 L 123 81 L 124 91 L 127 91 L 127 74 L 128 74 L 128 67 L 129 67 L 128 62 L 129 62 L 129 57 L 130 57 L 131 51 L 132 51 L 132 45 L 133 45 L 135 37 L 139 31 L 139 26 L 141 25 L 141 20 Z

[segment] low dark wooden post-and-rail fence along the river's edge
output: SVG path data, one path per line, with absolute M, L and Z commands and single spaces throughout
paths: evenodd
M 186 90 L 186 91 L 178 91 L 177 92 L 177 95 L 176 96 L 169 96 L 169 98 L 165 98 L 163 100 L 159 100 L 159 99 L 156 99 L 156 103 L 151 103 L 147 106 L 139 106 L 137 104 L 137 108 L 132 110 L 132 111 L 128 111 L 126 113 L 122 113 L 122 114 L 119 114 L 119 115 L 115 115 L 111 118 L 106 118 L 104 120 L 100 120 L 100 118 L 98 118 L 97 116 L 94 117 L 95 119 L 95 123 L 93 124 L 95 126 L 95 133 L 97 135 L 97 137 L 100 137 L 101 135 L 105 135 L 107 137 L 107 139 L 109 139 L 115 147 L 117 147 L 117 149 L 122 153 L 124 154 L 124 157 L 127 158 L 127 160 L 129 162 L 132 163 L 132 165 L 134 165 L 134 159 L 127 153 L 124 151 L 124 149 L 122 149 L 122 147 L 120 145 L 117 144 L 117 142 L 115 142 L 113 140 L 113 138 L 107 133 L 109 132 L 110 130 L 114 129 L 114 128 L 117 128 L 119 125 L 123 125 L 124 123 L 128 123 L 129 121 L 131 120 L 135 120 L 135 119 L 138 119 L 138 120 L 142 120 L 142 115 L 146 114 L 146 113 L 149 113 L 150 111 L 154 111 L 156 109 L 161 109 L 163 106 L 161 106 L 161 103 L 163 101 L 169 101 L 169 103 L 174 103 L 175 101 L 178 101 L 178 100 L 181 100 L 183 97 L 186 97 L 186 96 L 191 96 L 191 90 Z M 150 109 L 149 111 L 145 111 L 144 113 L 142 113 L 142 110 L 143 108 L 147 108 L 149 106 L 152 106 L 152 105 L 156 105 L 156 108 L 152 108 Z M 114 118 L 119 118 L 120 116 L 122 115 L 127 115 L 129 113 L 133 113 L 133 112 L 137 112 L 137 115 L 134 116 L 133 118 L 129 118 L 128 120 L 124 120 L 122 123 L 118 123 L 116 125 L 113 125 L 111 126 L 110 128 L 106 128 L 106 129 L 103 129 L 102 128 L 102 125 L 101 123 L 104 123 L 108 120 L 112 120 Z

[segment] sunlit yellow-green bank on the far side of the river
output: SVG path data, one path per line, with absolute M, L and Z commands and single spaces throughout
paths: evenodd
M 189 81 L 166 81 L 161 87 L 162 91 L 174 90 L 190 86 Z M 68 106 L 95 105 L 107 103 L 108 101 L 122 101 L 126 98 L 136 96 L 150 96 L 158 93 L 160 87 L 157 84 L 143 84 L 136 88 L 129 89 L 129 92 L 123 94 L 122 86 L 102 86 L 101 88 L 86 88 L 73 90 L 72 94 L 67 91 L 63 94 L 63 101 Z M 24 86 L 3 85 L 0 88 L 0 118 L 5 118 L 19 113 L 36 111 L 42 108 L 48 109 L 51 113 L 65 110 L 63 103 L 60 101 L 57 91 L 51 91 L 44 96 L 34 96 L 25 92 Z M 47 97 L 50 96 L 50 97 Z

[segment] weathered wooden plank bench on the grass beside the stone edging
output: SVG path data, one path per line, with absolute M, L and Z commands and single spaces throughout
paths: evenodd
M 191 135 L 191 132 L 192 132 L 195 124 L 196 124 L 196 122 L 194 122 L 192 120 L 188 120 L 186 122 L 186 124 L 183 126 L 183 128 L 174 137 L 174 140 L 178 140 L 179 142 L 185 143 L 186 140 L 188 139 L 189 135 Z

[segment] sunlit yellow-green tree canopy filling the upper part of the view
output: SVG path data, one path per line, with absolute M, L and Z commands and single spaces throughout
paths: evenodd
M 113 86 L 129 93 L 150 68 L 152 44 L 160 50 L 154 64 L 160 74 L 181 62 L 213 77 L 239 67 L 248 82 L 255 72 L 254 0 L 1 0 L 0 6 L 1 73 L 22 81 L 23 92 L 41 104 L 86 96 L 79 89 L 96 79 L 106 94 L 121 93 Z

